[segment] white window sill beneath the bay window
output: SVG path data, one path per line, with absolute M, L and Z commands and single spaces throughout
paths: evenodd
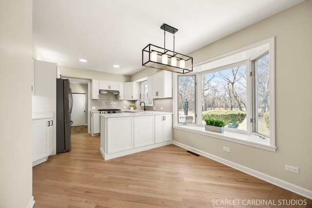
M 247 135 L 241 133 L 234 133 L 234 132 L 224 132 L 224 133 L 216 133 L 216 132 L 209 132 L 205 130 L 205 127 L 201 126 L 173 126 L 174 129 L 186 131 L 186 132 L 193 132 L 205 136 L 211 136 L 218 139 L 223 139 L 226 141 L 235 142 L 238 144 L 243 144 L 263 150 L 268 151 L 276 151 L 276 147 L 270 145 L 269 139 L 262 139 L 256 135 Z

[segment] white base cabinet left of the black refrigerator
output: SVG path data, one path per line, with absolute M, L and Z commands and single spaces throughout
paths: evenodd
M 52 153 L 53 120 L 33 119 L 33 166 L 45 162 Z

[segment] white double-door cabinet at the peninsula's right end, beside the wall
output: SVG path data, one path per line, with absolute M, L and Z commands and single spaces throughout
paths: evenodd
M 172 140 L 172 114 L 155 115 L 155 143 Z

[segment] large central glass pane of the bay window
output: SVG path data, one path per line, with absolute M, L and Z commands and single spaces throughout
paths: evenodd
M 224 120 L 226 128 L 247 131 L 246 64 L 201 75 L 202 124 L 205 118 Z

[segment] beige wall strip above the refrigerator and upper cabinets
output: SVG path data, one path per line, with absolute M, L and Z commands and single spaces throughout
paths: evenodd
M 117 75 L 99 71 L 76 69 L 71 67 L 59 66 L 62 76 L 72 77 L 72 78 L 83 78 L 83 79 L 99 79 L 104 81 L 119 81 L 127 82 L 130 81 L 130 76 L 127 75 Z

